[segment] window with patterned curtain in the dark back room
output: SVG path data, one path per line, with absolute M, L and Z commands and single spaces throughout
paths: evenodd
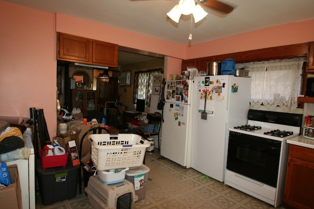
M 149 102 L 149 97 L 153 89 L 153 76 L 160 73 L 163 73 L 162 68 L 134 73 L 133 104 L 136 104 L 136 99 Z

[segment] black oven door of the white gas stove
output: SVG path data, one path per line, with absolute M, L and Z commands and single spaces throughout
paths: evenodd
M 276 187 L 281 141 L 229 132 L 227 169 Z

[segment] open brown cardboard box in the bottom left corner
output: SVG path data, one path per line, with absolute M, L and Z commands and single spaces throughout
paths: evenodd
M 22 193 L 18 166 L 7 166 L 10 174 L 11 185 L 0 188 L 1 209 L 22 209 Z

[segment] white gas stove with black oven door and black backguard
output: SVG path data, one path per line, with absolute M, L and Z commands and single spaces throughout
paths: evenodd
M 248 123 L 229 128 L 225 184 L 277 207 L 282 203 L 286 140 L 299 135 L 301 114 L 252 110 Z

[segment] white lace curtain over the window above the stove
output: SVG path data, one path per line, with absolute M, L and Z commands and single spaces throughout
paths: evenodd
M 263 104 L 270 110 L 280 106 L 291 111 L 298 106 L 303 62 L 303 59 L 250 62 L 236 64 L 235 68 L 249 70 L 253 107 Z

